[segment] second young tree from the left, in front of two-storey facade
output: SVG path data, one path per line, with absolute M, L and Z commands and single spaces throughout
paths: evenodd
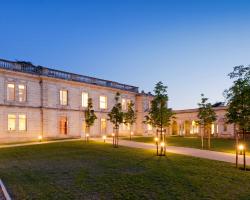
M 114 125 L 114 147 L 118 147 L 118 137 L 119 137 L 119 127 L 120 124 L 123 123 L 124 113 L 122 112 L 122 104 L 119 102 L 120 100 L 120 93 L 116 93 L 115 96 L 115 105 L 108 113 L 109 121 Z

